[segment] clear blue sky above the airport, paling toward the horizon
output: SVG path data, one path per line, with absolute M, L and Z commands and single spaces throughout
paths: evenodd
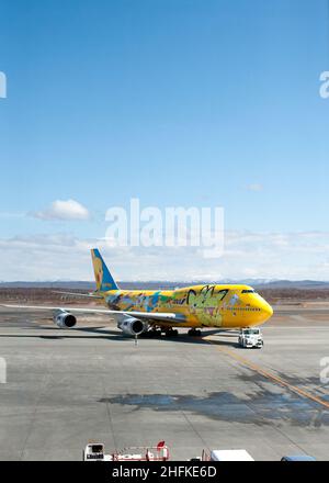
M 179 260 L 188 277 L 329 280 L 328 19 L 327 0 L 2 0 L 0 280 L 90 278 L 87 247 L 132 196 L 224 206 L 239 255 L 104 247 L 122 278 L 140 261 L 177 278 Z M 56 200 L 91 216 L 33 215 Z

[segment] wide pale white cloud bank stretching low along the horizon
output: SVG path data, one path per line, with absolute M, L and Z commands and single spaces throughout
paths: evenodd
M 115 247 L 68 234 L 0 239 L 1 280 L 93 280 L 89 249 L 99 247 L 118 280 L 329 280 L 329 233 L 227 232 L 220 258 L 197 247 Z

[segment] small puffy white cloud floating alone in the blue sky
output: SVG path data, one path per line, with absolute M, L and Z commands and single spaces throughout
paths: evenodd
M 56 200 L 46 210 L 31 213 L 39 220 L 88 220 L 89 211 L 81 203 L 75 200 Z

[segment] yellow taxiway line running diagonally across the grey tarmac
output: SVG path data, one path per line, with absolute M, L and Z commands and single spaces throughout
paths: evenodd
M 229 349 L 226 349 L 224 347 L 218 347 L 216 345 L 216 342 L 214 342 L 213 340 L 211 340 L 211 339 L 208 339 L 206 337 L 204 338 L 204 340 L 206 340 L 207 342 L 212 344 L 214 347 L 216 347 L 216 349 L 220 350 L 220 352 L 226 353 L 227 356 L 229 356 L 232 359 L 237 360 L 238 362 L 240 362 L 241 364 L 246 366 L 247 368 L 252 369 L 253 371 L 258 372 L 259 374 L 263 375 L 264 378 L 269 379 L 270 381 L 273 381 L 276 384 L 282 385 L 283 387 L 287 387 L 290 391 L 298 394 L 299 396 L 306 397 L 306 398 L 308 398 L 310 401 L 314 401 L 315 403 L 318 403 L 321 406 L 324 406 L 327 409 L 329 409 L 329 402 L 324 401 L 320 397 L 311 394 L 310 392 L 297 387 L 296 385 L 290 384 L 288 382 L 284 381 L 284 379 L 279 378 L 277 375 L 272 374 L 269 371 L 265 371 L 260 366 L 256 364 L 254 362 L 251 362 L 248 359 L 245 359 L 241 356 L 238 356 L 237 353 L 232 352 Z

